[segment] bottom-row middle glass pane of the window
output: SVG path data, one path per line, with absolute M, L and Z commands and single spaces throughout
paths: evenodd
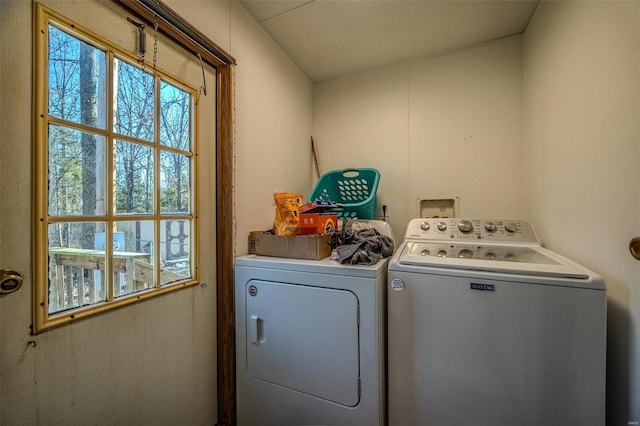
M 116 297 L 154 287 L 154 228 L 151 220 L 115 223 L 113 232 L 113 294 Z

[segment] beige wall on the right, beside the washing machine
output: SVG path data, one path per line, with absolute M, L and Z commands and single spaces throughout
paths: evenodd
M 609 425 L 640 421 L 639 58 L 638 1 L 542 2 L 525 32 L 527 212 L 607 282 Z

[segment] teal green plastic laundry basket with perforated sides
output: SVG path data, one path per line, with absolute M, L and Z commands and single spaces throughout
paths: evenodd
M 375 219 L 376 194 L 380 172 L 372 168 L 334 170 L 320 176 L 313 187 L 309 202 L 333 201 L 343 207 L 338 217 Z

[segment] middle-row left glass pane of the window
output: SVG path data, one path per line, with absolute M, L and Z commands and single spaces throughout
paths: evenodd
M 103 215 L 105 137 L 50 125 L 48 146 L 49 215 Z

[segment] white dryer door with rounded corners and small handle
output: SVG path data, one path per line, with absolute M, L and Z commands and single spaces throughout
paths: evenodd
M 245 290 L 249 373 L 338 404 L 357 405 L 356 295 L 260 280 L 249 281 Z

